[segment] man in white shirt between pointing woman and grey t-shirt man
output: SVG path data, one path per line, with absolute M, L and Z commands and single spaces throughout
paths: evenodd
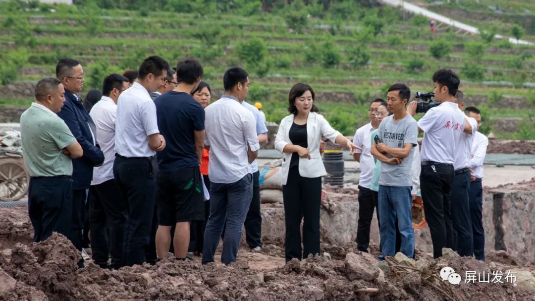
M 371 149 L 371 132 L 377 130 L 379 122 L 377 120 L 377 108 L 379 106 L 387 107 L 384 100 L 378 98 L 370 103 L 368 117 L 370 123 L 357 129 L 353 137 L 353 144 L 362 147 L 362 151 L 357 149 L 353 154 L 355 161 L 360 163 L 361 174 L 358 179 L 358 228 L 357 228 L 357 249 L 361 252 L 368 252 L 370 245 L 370 225 L 373 218 L 373 210 L 377 208 L 377 198 L 373 198 L 373 191 L 370 190 L 373 168 L 375 160 L 370 153 Z

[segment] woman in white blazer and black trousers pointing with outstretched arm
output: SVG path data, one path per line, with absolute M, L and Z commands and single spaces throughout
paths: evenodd
M 296 84 L 288 97 L 291 115 L 282 119 L 275 139 L 275 148 L 282 152 L 282 197 L 286 222 L 286 262 L 307 258 L 319 253 L 319 207 L 322 195 L 322 176 L 327 175 L 319 154 L 323 137 L 334 144 L 355 146 L 334 130 L 322 115 L 316 113 L 314 90 L 307 84 Z M 301 220 L 303 247 L 301 254 Z

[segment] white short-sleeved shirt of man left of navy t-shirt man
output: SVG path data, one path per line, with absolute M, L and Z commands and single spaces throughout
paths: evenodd
M 126 89 L 117 101 L 115 151 L 124 157 L 156 154 L 148 136 L 159 133 L 156 106 L 149 92 L 138 82 Z

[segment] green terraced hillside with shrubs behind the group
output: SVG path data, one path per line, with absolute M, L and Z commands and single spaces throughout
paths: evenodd
M 500 138 L 535 139 L 533 47 L 447 27 L 431 34 L 426 18 L 373 1 L 338 1 L 326 11 L 300 1 L 276 2 L 271 11 L 262 10 L 260 1 L 223 8 L 220 2 L 189 7 L 189 13 L 169 9 L 179 10 L 176 6 L 133 11 L 87 1 L 2 2 L 0 104 L 27 106 L 32 101 L 27 81 L 52 76 L 61 57 L 82 62 L 87 92 L 100 87 L 105 74 L 135 69 L 150 54 L 172 63 L 193 56 L 205 66 L 204 79 L 216 97 L 225 69 L 244 66 L 253 80 L 249 100 L 261 101 L 268 120 L 278 122 L 287 114 L 289 88 L 307 82 L 328 120 L 353 134 L 366 119 L 366 103 L 384 97 L 389 85 L 401 81 L 412 91 L 430 91 L 432 73 L 449 67 L 460 74 L 468 104 L 484 109 L 486 132 L 494 126 Z M 500 22 L 501 31 L 506 23 Z

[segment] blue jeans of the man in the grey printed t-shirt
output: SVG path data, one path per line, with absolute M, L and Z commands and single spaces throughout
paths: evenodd
M 379 260 L 386 256 L 394 256 L 396 248 L 395 220 L 401 233 L 400 252 L 412 258 L 414 255 L 414 229 L 412 228 L 412 197 L 411 187 L 394 187 L 379 185 L 379 215 L 381 216 L 381 250 Z

